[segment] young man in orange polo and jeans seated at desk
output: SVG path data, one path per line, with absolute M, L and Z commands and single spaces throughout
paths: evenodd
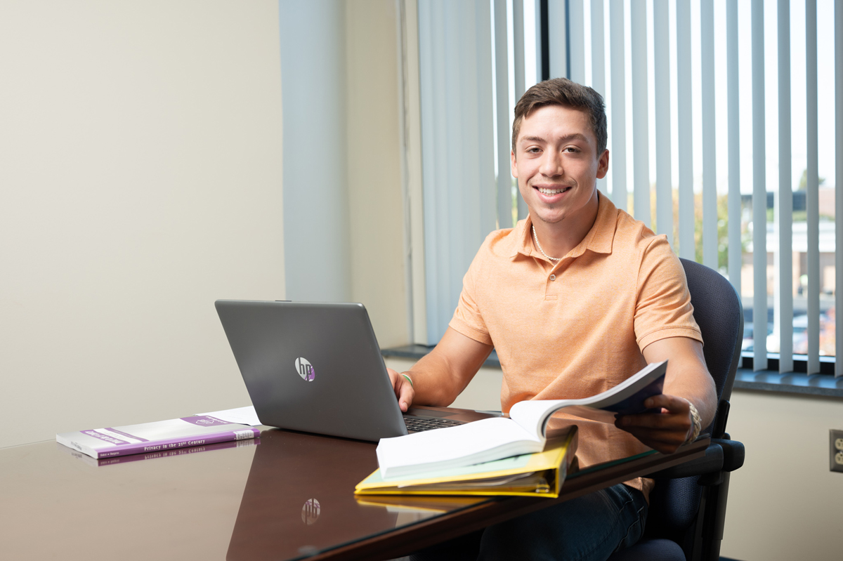
M 662 413 L 617 425 L 669 453 L 711 423 L 716 394 L 684 270 L 664 236 L 597 190 L 606 139 L 593 89 L 560 78 L 524 93 L 511 158 L 529 216 L 486 238 L 436 348 L 389 371 L 402 410 L 452 403 L 494 348 L 504 412 L 523 399 L 587 397 L 667 359 L 664 393 L 647 403 Z M 607 558 L 641 536 L 650 489 L 638 478 L 491 526 L 480 558 Z

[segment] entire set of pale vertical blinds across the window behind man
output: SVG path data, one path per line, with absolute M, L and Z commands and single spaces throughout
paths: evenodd
M 840 268 L 834 248 L 843 243 L 843 228 L 829 229 L 827 220 L 820 227 L 825 219 L 820 216 L 818 127 L 818 80 L 834 72 L 833 107 L 824 110 L 835 114 L 835 163 L 825 173 L 840 177 L 843 9 L 828 0 L 820 5 L 823 13 L 834 11 L 834 64 L 823 68 L 818 68 L 817 0 L 752 0 L 751 5 L 736 0 L 420 0 L 428 341 L 438 340 L 447 327 L 462 275 L 486 233 L 511 227 L 513 211 L 518 218 L 526 215 L 520 197 L 513 209 L 509 151 L 513 104 L 540 78 L 525 70 L 534 51 L 537 72 L 545 68 L 550 77 L 571 77 L 606 99 L 611 168 L 599 188 L 616 206 L 667 235 L 679 256 L 721 270 L 744 296 L 752 314 L 747 325 L 754 369 L 766 369 L 770 356 L 778 359 L 780 371 L 792 371 L 798 335 L 807 339 L 807 350 L 799 352 L 808 373 L 820 371 L 821 362 L 829 360 L 820 358 L 829 354 L 821 336 L 833 339 L 832 349 L 840 349 L 843 336 L 841 319 L 835 315 L 831 321 L 831 309 L 840 309 L 843 275 L 828 280 Z M 794 10 L 802 12 L 799 18 Z M 775 26 L 768 23 L 773 14 Z M 798 49 L 792 45 L 794 34 L 804 37 Z M 777 56 L 771 59 L 767 54 L 774 46 Z M 803 60 L 792 62 L 794 53 L 804 53 Z M 792 83 L 792 63 L 804 65 L 804 83 Z M 777 77 L 775 96 L 768 73 Z M 793 95 L 794 88 L 804 88 L 804 95 Z M 795 104 L 797 97 L 804 99 L 803 108 Z M 805 115 L 804 123 L 797 114 Z M 797 125 L 804 127 L 804 146 L 795 144 L 803 138 L 795 133 Z M 767 146 L 771 131 L 777 132 L 777 147 Z M 751 158 L 744 158 L 749 146 Z M 805 155 L 804 221 L 797 222 L 796 154 Z M 767 160 L 774 157 L 777 173 L 768 173 Z M 843 181 L 835 179 L 835 216 L 843 216 L 841 186 Z M 794 224 L 805 228 L 804 254 L 794 245 Z M 820 232 L 832 231 L 830 243 L 821 240 Z M 830 258 L 823 255 L 830 253 L 829 270 Z M 807 282 L 793 272 L 797 266 Z M 749 275 L 743 283 L 742 274 Z M 821 286 L 823 274 L 827 280 Z M 802 319 L 794 319 L 795 295 L 798 315 L 806 316 L 797 328 Z M 777 354 L 768 349 L 770 330 Z M 843 375 L 840 362 L 834 370 Z

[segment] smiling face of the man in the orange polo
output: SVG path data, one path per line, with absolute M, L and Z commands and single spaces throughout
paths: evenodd
M 545 105 L 521 121 L 511 158 L 530 216 L 549 224 L 577 222 L 609 168 L 609 151 L 597 153 L 588 114 L 561 105 Z

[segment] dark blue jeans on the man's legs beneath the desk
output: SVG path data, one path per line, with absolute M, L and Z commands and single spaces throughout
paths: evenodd
M 644 495 L 617 484 L 427 548 L 411 559 L 605 561 L 637 542 L 646 521 Z

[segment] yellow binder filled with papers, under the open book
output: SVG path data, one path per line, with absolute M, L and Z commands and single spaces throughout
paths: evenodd
M 424 473 L 413 478 L 363 479 L 355 494 L 481 494 L 556 498 L 577 450 L 577 427 L 547 441 L 544 451 Z

